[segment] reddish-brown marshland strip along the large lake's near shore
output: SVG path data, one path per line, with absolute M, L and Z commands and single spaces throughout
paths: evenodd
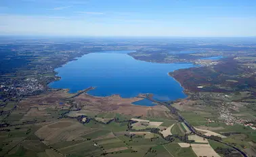
M 69 94 L 67 90 L 58 90 L 54 92 L 47 92 L 38 96 L 30 96 L 22 100 L 19 104 L 19 108 L 31 108 L 38 107 L 39 111 L 43 111 L 46 108 L 69 108 L 70 104 L 66 103 L 66 98 L 70 98 L 74 94 Z M 132 102 L 142 100 L 142 98 L 121 98 L 119 95 L 97 97 L 90 96 L 88 94 L 81 94 L 72 98 L 81 111 L 70 112 L 70 117 L 77 117 L 79 115 L 97 115 L 102 112 L 119 113 L 131 116 L 144 116 L 148 115 L 148 110 L 152 110 L 154 115 L 161 115 L 163 112 L 168 111 L 165 106 L 139 106 L 131 104 Z

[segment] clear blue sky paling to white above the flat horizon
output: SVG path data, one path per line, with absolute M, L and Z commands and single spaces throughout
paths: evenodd
M 0 0 L 0 35 L 256 36 L 256 1 Z

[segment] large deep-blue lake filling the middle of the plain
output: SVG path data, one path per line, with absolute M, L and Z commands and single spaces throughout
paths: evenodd
M 70 92 L 93 86 L 96 87 L 95 90 L 88 92 L 93 96 L 119 94 L 130 98 L 151 93 L 156 100 L 163 101 L 186 97 L 184 89 L 168 73 L 195 65 L 137 61 L 127 55 L 129 52 L 131 51 L 105 51 L 84 55 L 77 61 L 70 61 L 56 69 L 61 79 L 49 86 L 68 88 Z M 146 104 L 146 100 L 140 104 L 144 103 Z

